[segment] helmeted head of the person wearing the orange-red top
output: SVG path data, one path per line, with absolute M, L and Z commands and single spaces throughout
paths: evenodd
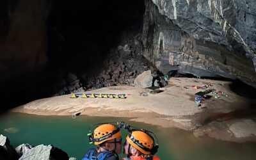
M 124 143 L 124 154 L 129 156 L 141 156 L 155 154 L 157 148 L 154 138 L 144 131 L 129 131 Z

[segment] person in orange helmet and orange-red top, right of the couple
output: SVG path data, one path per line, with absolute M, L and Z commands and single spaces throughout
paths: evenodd
M 122 160 L 160 160 L 159 157 L 154 156 L 157 152 L 158 145 L 155 144 L 154 138 L 149 132 L 143 129 L 132 129 L 128 131 L 124 143 L 124 154 L 127 157 L 124 157 Z

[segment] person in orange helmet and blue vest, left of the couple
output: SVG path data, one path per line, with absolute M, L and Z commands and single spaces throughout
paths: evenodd
M 101 124 L 88 136 L 90 143 L 98 147 L 88 150 L 82 160 L 119 160 L 118 154 L 122 152 L 119 127 L 113 124 Z

